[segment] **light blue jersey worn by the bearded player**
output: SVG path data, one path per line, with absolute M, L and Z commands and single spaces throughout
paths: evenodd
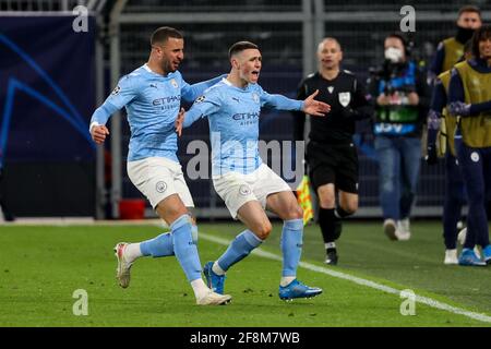
M 175 121 L 181 98 L 192 103 L 220 79 L 190 85 L 179 71 L 163 76 L 144 64 L 121 77 L 92 116 L 91 124 L 106 124 L 116 110 L 125 107 L 131 130 L 128 160 L 165 157 L 179 163 Z

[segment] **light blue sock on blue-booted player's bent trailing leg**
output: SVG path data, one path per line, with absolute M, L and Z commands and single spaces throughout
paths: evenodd
M 258 238 L 252 231 L 242 231 L 233 239 L 227 251 L 218 258 L 218 265 L 224 272 L 227 272 L 229 267 L 247 257 L 249 253 L 262 242 L 263 240 Z

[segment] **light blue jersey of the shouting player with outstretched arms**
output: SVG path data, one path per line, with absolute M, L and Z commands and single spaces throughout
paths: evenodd
M 240 88 L 223 79 L 207 88 L 185 113 L 184 128 L 200 118 L 208 118 L 213 176 L 229 171 L 248 174 L 260 167 L 258 142 L 262 107 L 301 110 L 303 101 L 271 95 L 259 84 Z

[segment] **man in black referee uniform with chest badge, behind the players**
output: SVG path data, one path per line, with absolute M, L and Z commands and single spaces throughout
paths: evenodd
M 336 265 L 338 255 L 334 241 L 340 234 L 340 219 L 358 209 L 358 155 L 352 143 L 355 122 L 370 118 L 373 107 L 367 100 L 360 81 L 351 72 L 340 70 L 343 51 L 335 38 L 327 37 L 319 44 L 318 60 L 319 72 L 300 83 L 298 99 L 319 89 L 316 98 L 331 106 L 325 118 L 311 119 L 307 163 L 319 197 L 319 224 L 327 255 L 325 263 Z M 296 139 L 303 140 L 304 115 L 297 117 Z

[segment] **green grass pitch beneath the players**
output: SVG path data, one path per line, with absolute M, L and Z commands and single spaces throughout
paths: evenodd
M 240 224 L 200 224 L 202 263 L 226 249 L 206 237 L 231 240 Z M 279 255 L 282 224 L 262 250 Z M 443 265 L 439 221 L 416 220 L 407 242 L 388 241 L 381 222 L 349 221 L 338 241 L 339 265 L 323 264 L 324 249 L 316 226 L 304 231 L 302 261 L 371 280 L 489 316 L 491 266 Z M 165 327 L 328 327 L 328 326 L 490 326 L 416 303 L 415 315 L 400 314 L 405 299 L 350 280 L 299 268 L 298 277 L 319 286 L 314 299 L 284 302 L 277 290 L 280 262 L 250 255 L 227 274 L 227 306 L 199 306 L 175 257 L 141 258 L 128 289 L 115 278 L 112 248 L 119 241 L 142 241 L 161 232 L 142 226 L 0 227 L 0 326 L 165 326 Z M 85 290 L 88 315 L 73 314 L 73 292 Z M 489 317 L 488 317 L 489 318 Z

